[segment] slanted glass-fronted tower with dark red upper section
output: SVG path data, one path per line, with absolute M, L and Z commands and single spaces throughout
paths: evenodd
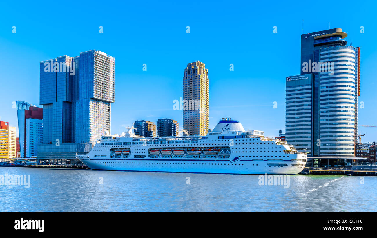
M 16 105 L 21 157 L 37 156 L 38 145 L 43 143 L 43 109 L 25 101 Z

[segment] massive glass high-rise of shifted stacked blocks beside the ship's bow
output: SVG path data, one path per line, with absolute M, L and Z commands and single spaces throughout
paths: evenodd
M 50 157 L 55 151 L 55 155 L 61 152 L 61 157 L 73 159 L 73 148 L 89 152 L 87 145 L 64 144 L 93 145 L 100 140 L 110 131 L 110 104 L 114 101 L 114 57 L 90 50 L 75 57 L 64 55 L 40 62 L 44 145 L 38 149 L 38 158 Z

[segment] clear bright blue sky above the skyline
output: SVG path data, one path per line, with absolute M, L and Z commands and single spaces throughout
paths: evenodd
M 135 120 L 176 119 L 184 68 L 202 61 L 210 79 L 210 128 L 221 117 L 246 130 L 285 130 L 285 76 L 300 73 L 303 33 L 342 28 L 361 47 L 360 125 L 377 125 L 376 3 L 177 1 L 2 3 L 0 116 L 17 126 L 13 101 L 39 105 L 39 62 L 97 49 L 115 57 L 112 133 Z M 329 14 L 331 12 L 331 14 Z M 16 26 L 16 34 L 12 34 Z M 103 26 L 104 33 L 99 33 Z M 186 33 L 190 26 L 190 33 Z M 277 26 L 277 33 L 273 27 Z M 360 33 L 363 26 L 365 33 Z M 143 71 L 147 64 L 147 71 Z M 234 64 L 234 71 L 229 65 Z M 273 103 L 277 102 L 277 108 Z M 377 127 L 361 127 L 363 142 Z

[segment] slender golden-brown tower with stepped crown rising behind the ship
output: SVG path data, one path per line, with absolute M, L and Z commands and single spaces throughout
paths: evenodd
M 189 63 L 183 76 L 183 129 L 191 135 L 208 132 L 209 79 L 205 64 Z

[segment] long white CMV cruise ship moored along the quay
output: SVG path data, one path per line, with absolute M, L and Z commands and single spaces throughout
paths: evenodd
M 294 146 L 263 131 L 245 131 L 231 118 L 205 136 L 143 137 L 127 129 L 103 136 L 76 158 L 98 170 L 213 174 L 297 174 L 307 161 Z

